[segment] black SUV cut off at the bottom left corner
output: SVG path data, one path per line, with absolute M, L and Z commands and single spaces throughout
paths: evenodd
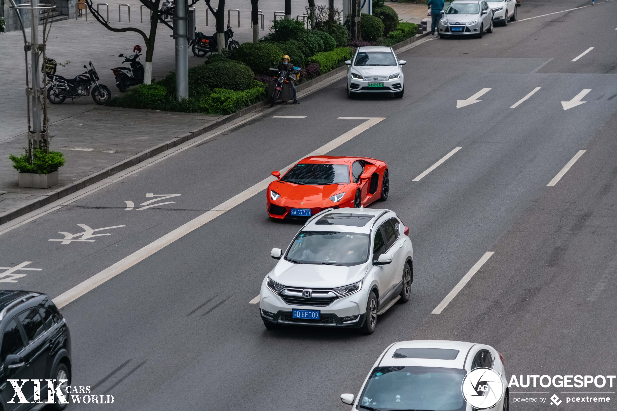
M 8 404 L 15 390 L 7 380 L 41 381 L 41 401 L 47 401 L 45 380 L 71 381 L 71 338 L 67 322 L 48 295 L 21 290 L 0 290 L 0 409 L 27 410 L 35 404 Z M 34 384 L 22 393 L 33 401 Z M 66 404 L 51 405 L 63 409 Z

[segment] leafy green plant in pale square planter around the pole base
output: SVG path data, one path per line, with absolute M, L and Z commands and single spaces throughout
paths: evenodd
M 48 189 L 58 184 L 58 169 L 64 166 L 64 155 L 43 148 L 32 149 L 30 161 L 28 150 L 20 157 L 10 155 L 13 168 L 19 171 L 19 187 Z

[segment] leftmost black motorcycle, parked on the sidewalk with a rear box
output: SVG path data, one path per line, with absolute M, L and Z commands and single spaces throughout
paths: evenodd
M 53 62 L 53 60 L 51 60 Z M 51 81 L 47 89 L 47 99 L 52 104 L 62 104 L 64 100 L 78 99 L 92 95 L 92 99 L 96 104 L 107 104 L 112 99 L 112 92 L 109 87 L 99 84 L 99 75 L 96 73 L 92 62 L 89 62 L 90 68 L 84 65 L 86 69 L 82 74 L 75 78 L 64 78 L 56 75 L 55 63 L 49 60 L 45 64 L 45 74 Z

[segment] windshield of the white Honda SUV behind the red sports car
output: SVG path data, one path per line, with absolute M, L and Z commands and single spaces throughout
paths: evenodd
M 368 234 L 300 231 L 286 260 L 298 264 L 356 266 L 368 258 Z

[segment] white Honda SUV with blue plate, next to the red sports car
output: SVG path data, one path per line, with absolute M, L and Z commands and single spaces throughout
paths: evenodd
M 265 276 L 259 295 L 266 328 L 281 325 L 375 331 L 377 316 L 406 303 L 413 282 L 409 229 L 394 211 L 328 209 L 312 216 Z

